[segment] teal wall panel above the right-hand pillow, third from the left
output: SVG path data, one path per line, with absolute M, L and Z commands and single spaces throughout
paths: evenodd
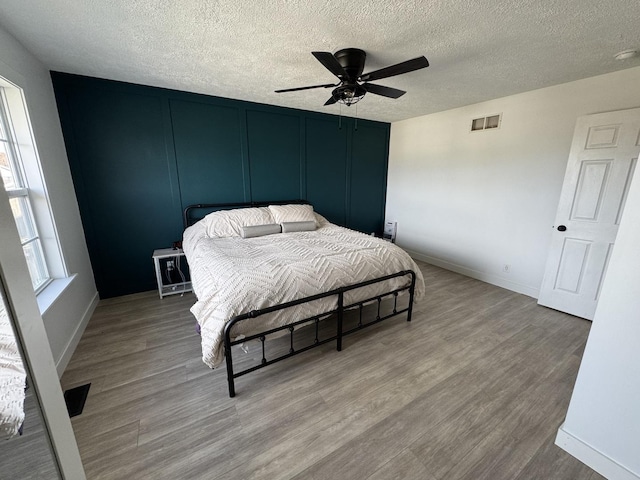
M 300 117 L 247 110 L 251 200 L 302 198 Z

